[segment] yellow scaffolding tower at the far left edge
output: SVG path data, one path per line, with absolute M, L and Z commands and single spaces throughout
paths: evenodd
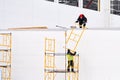
M 11 80 L 11 33 L 0 33 L 0 69 L 2 80 Z

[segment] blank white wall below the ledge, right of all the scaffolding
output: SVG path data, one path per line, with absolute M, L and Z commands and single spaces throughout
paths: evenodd
M 120 31 L 87 30 L 79 43 L 80 80 L 120 79 Z

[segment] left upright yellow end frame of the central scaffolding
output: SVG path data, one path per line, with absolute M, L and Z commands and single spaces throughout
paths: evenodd
M 44 80 L 54 80 L 55 73 L 55 39 L 45 38 Z

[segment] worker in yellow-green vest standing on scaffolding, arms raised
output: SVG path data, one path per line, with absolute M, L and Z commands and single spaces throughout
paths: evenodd
M 68 59 L 68 66 L 67 66 L 67 71 L 70 72 L 70 67 L 71 71 L 74 72 L 74 61 L 73 61 L 73 56 L 76 55 L 76 52 L 72 53 L 70 49 L 67 51 L 67 59 Z

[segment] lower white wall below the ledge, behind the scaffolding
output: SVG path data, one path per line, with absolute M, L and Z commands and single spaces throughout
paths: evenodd
M 44 80 L 44 38 L 56 38 L 56 52 L 63 53 L 64 32 L 12 33 L 12 79 Z M 120 80 L 119 36 L 119 30 L 85 31 L 77 47 L 77 54 L 80 54 L 80 80 Z M 63 58 L 56 58 L 57 69 L 64 68 L 63 61 Z M 64 74 L 56 74 L 56 80 L 61 78 L 64 79 Z

